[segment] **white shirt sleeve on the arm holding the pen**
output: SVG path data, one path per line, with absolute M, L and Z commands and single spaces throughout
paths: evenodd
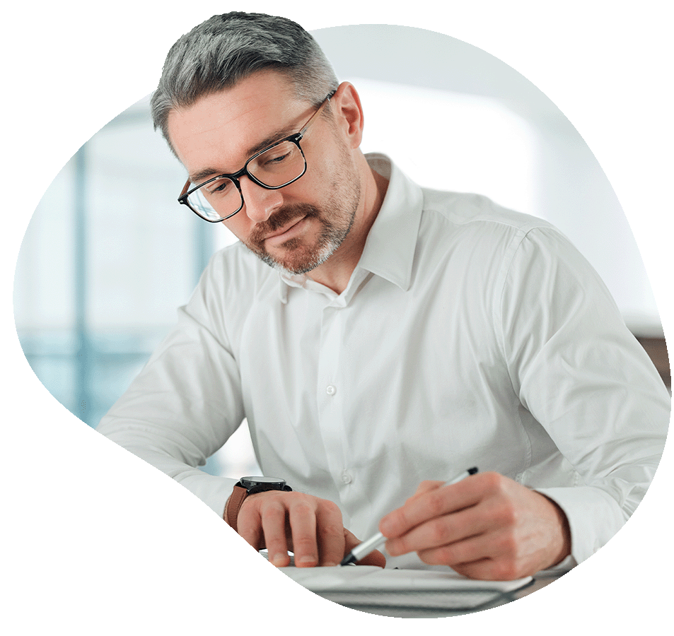
M 644 497 L 670 396 L 604 283 L 556 230 L 513 243 L 499 310 L 513 388 L 576 471 L 574 487 L 531 487 L 566 513 L 580 563 Z

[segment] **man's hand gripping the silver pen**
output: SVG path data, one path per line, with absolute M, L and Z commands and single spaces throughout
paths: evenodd
M 571 552 L 562 509 L 498 473 L 447 486 L 424 481 L 379 529 L 391 556 L 417 552 L 424 563 L 482 580 L 530 576 Z

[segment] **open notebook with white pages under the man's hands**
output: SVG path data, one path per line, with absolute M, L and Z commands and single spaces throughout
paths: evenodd
M 509 592 L 533 579 L 476 581 L 453 570 L 386 570 L 373 565 L 281 567 L 306 589 L 348 607 L 474 609 L 509 601 Z

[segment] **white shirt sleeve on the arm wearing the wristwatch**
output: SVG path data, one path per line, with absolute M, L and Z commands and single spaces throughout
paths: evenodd
M 207 270 L 190 302 L 178 310 L 178 324 L 97 428 L 220 516 L 236 479 L 211 476 L 197 466 L 244 418 L 222 305 Z

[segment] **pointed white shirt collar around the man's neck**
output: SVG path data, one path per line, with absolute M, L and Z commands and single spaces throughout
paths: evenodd
M 414 250 L 422 217 L 422 189 L 388 156 L 380 153 L 365 156 L 370 167 L 389 183 L 356 271 L 371 271 L 406 291 L 412 279 Z M 304 275 L 288 276 L 279 271 L 279 278 L 281 302 L 286 302 L 289 287 L 304 287 L 306 283 Z

